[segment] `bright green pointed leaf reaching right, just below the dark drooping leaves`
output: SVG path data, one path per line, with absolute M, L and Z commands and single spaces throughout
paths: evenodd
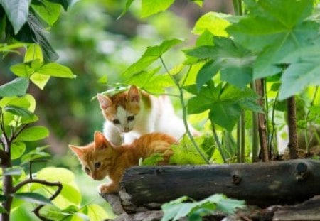
M 75 78 L 75 75 L 73 75 L 73 72 L 70 70 L 70 68 L 58 63 L 48 63 L 43 65 L 41 68 L 36 70 L 36 73 L 53 77 Z

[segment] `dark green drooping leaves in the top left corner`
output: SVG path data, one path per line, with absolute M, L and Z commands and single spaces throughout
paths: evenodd
M 2 52 L 11 52 L 21 48 L 22 43 L 36 43 L 41 47 L 46 62 L 58 59 L 46 38 L 46 28 L 58 20 L 61 6 L 67 10 L 69 0 L 14 0 L 0 1 L 0 34 L 1 38 L 18 41 L 11 45 L 2 45 Z

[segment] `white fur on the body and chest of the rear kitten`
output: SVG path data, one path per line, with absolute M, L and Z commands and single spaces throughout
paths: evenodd
M 129 124 L 127 117 L 132 116 L 132 113 L 126 112 L 122 107 L 118 107 L 117 119 L 119 119 L 121 126 L 106 121 L 104 134 L 107 139 L 116 145 L 120 145 L 119 136 L 114 135 L 117 133 L 114 129 L 118 129 L 118 133 L 119 131 L 123 132 L 124 126 L 129 126 L 129 129 L 132 129 L 132 131 L 127 133 L 122 133 L 124 144 L 131 144 L 134 139 L 152 132 L 162 132 L 173 136 L 175 139 L 181 139 L 183 134 L 186 133 L 186 129 L 183 120 L 178 118 L 174 113 L 174 107 L 172 107 L 169 97 L 150 96 L 150 98 L 151 109 L 146 109 L 144 102 L 141 101 L 140 112 L 135 116 L 134 121 L 129 122 Z M 191 129 L 191 133 L 196 132 L 192 126 L 189 126 L 189 128 Z

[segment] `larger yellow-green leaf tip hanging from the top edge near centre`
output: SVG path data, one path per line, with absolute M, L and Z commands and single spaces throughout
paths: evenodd
M 174 0 L 142 0 L 142 18 L 164 11 L 174 3 Z

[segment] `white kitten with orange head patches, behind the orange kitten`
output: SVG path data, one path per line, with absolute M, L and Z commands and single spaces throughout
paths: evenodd
M 113 144 L 130 144 L 152 132 L 170 134 L 175 139 L 186 133 L 183 120 L 176 116 L 167 96 L 154 97 L 132 85 L 112 97 L 98 94 L 97 99 L 106 119 L 103 133 Z M 191 126 L 190 129 L 198 135 L 198 131 Z

